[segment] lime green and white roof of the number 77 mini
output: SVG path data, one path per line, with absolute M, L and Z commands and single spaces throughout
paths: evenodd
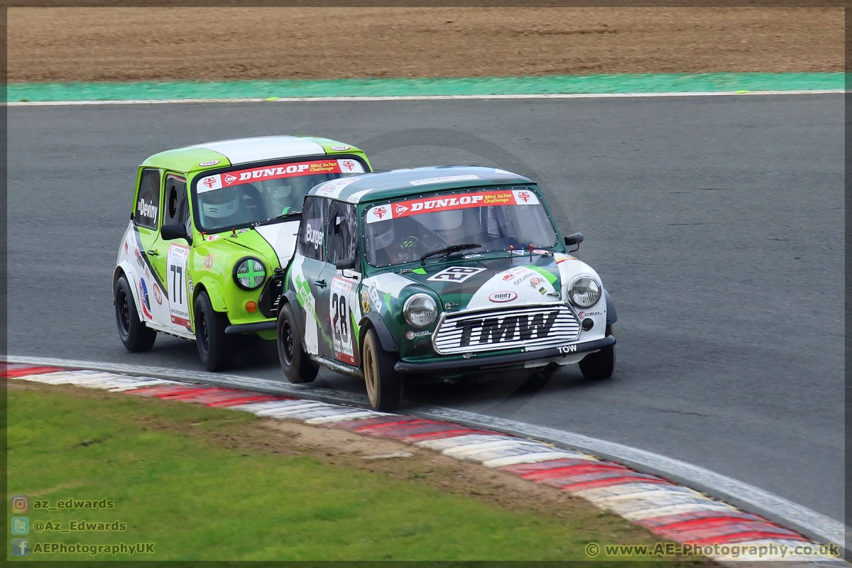
M 189 172 L 194 169 L 264 162 L 274 159 L 362 153 L 358 148 L 314 136 L 257 136 L 193 144 L 154 154 L 143 166 Z M 215 163 L 201 166 L 207 162 Z

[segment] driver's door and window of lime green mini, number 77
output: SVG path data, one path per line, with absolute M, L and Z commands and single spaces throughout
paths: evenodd
M 189 216 L 187 180 L 182 175 L 166 174 L 163 184 L 163 222 L 166 225 L 183 225 L 187 234 L 192 234 Z M 164 309 L 158 310 L 158 324 L 181 330 L 193 331 L 189 305 L 192 303 L 193 282 L 189 266 L 190 246 L 183 238 L 166 240 L 158 233 L 152 251 L 152 263 L 162 275 L 165 284 Z

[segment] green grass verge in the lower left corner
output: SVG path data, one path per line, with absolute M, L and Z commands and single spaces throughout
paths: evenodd
M 557 560 L 588 559 L 588 542 L 659 542 L 573 497 L 561 508 L 566 515 L 501 507 L 477 498 L 488 494 L 481 486 L 458 491 L 453 479 L 480 466 L 453 470 L 426 450 L 365 460 L 310 439 L 351 433 L 291 426 L 276 429 L 233 410 L 9 382 L 9 495 L 30 497 L 31 550 L 39 542 L 155 545 L 154 554 L 96 559 Z M 35 508 L 69 498 L 114 507 Z M 126 530 L 32 529 L 37 521 L 67 529 L 72 521 L 116 520 Z

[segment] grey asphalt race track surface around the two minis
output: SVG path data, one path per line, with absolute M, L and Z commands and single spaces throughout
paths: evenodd
M 843 98 L 746 95 L 10 107 L 9 353 L 200 370 L 118 340 L 111 276 L 138 164 L 241 136 L 324 135 L 377 169 L 499 165 L 584 233 L 619 312 L 607 382 L 406 393 L 692 462 L 843 520 Z M 235 373 L 280 378 L 245 341 Z M 323 371 L 318 386 L 363 393 Z M 366 399 L 366 396 L 365 396 Z

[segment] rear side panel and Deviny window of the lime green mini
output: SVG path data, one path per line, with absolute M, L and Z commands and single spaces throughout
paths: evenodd
M 130 260 L 133 271 L 136 293 L 139 295 L 139 307 L 145 322 L 158 323 L 160 320 L 159 304 L 162 302 L 162 273 L 158 273 L 154 249 L 160 227 L 160 211 L 162 209 L 162 192 L 160 170 L 156 168 L 142 169 L 139 175 L 139 185 L 136 191 L 136 204 L 133 214 L 134 258 Z M 125 244 L 125 251 L 130 255 L 130 247 Z

